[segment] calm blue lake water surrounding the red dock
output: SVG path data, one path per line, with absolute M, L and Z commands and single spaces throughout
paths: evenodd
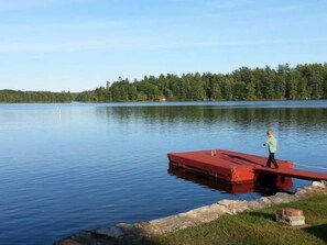
M 327 171 L 327 101 L 1 104 L 0 244 L 52 244 L 80 230 L 258 198 L 170 175 L 166 154 L 266 156 L 266 129 L 277 158 Z M 293 190 L 309 183 L 293 181 Z

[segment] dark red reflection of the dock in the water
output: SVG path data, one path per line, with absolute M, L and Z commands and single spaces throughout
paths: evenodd
M 261 176 L 257 181 L 230 182 L 174 166 L 170 166 L 168 174 L 176 178 L 228 193 L 260 192 L 274 194 L 277 191 L 287 191 L 293 187 L 291 178 L 279 178 L 272 175 Z

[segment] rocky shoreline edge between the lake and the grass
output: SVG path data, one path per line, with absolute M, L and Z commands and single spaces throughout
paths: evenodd
M 153 237 L 208 223 L 225 214 L 254 211 L 274 204 L 305 200 L 317 194 L 327 194 L 326 182 L 315 181 L 312 186 L 299 189 L 293 194 L 279 192 L 275 196 L 262 197 L 252 201 L 221 200 L 211 205 L 149 222 L 120 223 L 113 226 L 83 231 L 56 242 L 55 245 L 111 245 L 134 242 L 145 236 Z

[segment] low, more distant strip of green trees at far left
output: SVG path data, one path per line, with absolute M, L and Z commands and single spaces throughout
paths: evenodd
M 0 103 L 67 103 L 70 92 L 0 90 Z

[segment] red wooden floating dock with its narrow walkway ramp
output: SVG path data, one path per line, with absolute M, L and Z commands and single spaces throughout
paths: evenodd
M 277 159 L 279 169 L 266 168 L 266 157 L 224 149 L 170 153 L 170 165 L 230 182 L 253 181 L 260 174 L 327 180 L 327 174 L 293 169 L 293 163 Z

